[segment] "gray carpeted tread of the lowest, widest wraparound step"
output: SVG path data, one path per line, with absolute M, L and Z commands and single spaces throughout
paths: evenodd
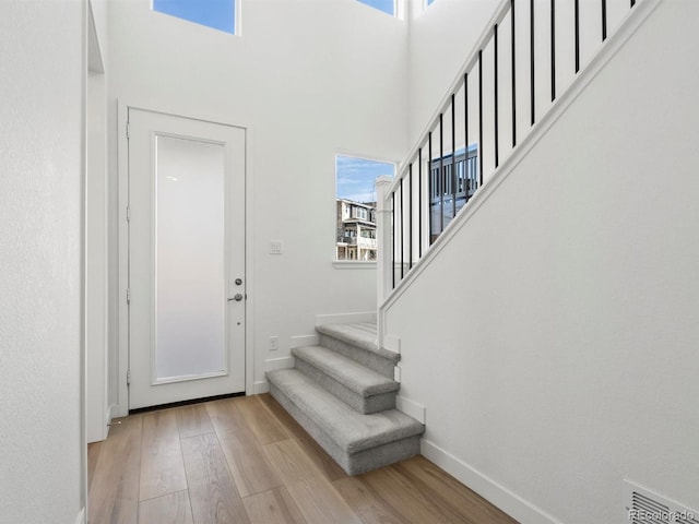
M 348 454 L 416 437 L 425 430 L 423 424 L 396 409 L 362 415 L 296 369 L 269 371 L 266 378 L 327 439 Z

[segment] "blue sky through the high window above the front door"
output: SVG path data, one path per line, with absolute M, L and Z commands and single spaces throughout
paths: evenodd
M 235 0 L 153 0 L 153 10 L 235 34 Z

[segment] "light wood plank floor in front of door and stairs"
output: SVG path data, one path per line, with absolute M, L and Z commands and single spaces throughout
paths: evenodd
M 120 420 L 88 446 L 91 524 L 517 524 L 422 456 L 348 477 L 266 394 Z

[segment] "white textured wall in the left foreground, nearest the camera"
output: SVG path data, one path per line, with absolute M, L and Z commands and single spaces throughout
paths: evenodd
M 0 3 L 0 522 L 74 523 L 81 420 L 83 10 Z

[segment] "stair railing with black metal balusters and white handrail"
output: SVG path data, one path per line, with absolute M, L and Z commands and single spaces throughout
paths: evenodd
M 637 3 L 624 1 L 629 2 L 628 9 Z M 534 0 L 503 0 L 496 9 L 395 179 L 377 183 L 377 205 L 382 217 L 377 224 L 379 306 L 516 150 L 522 139 L 518 132 L 529 126 L 523 135 L 529 134 L 569 87 L 561 90 L 559 80 L 567 80 L 568 75 L 572 83 L 583 69 L 581 52 L 591 45 L 605 44 L 611 35 L 607 0 L 599 2 L 599 26 L 595 22 L 594 28 L 581 27 L 579 0 L 549 0 L 546 11 L 537 9 L 541 3 L 535 4 Z M 582 8 L 592 9 L 591 5 L 592 2 L 584 2 Z M 568 32 L 560 28 L 560 22 L 569 20 L 561 19 L 566 9 L 572 17 Z M 548 53 L 537 48 L 542 36 L 547 39 Z M 572 38 L 572 57 L 557 53 L 564 37 Z M 509 46 L 501 45 L 505 38 L 509 38 Z M 518 49 L 522 45 L 526 47 L 523 51 Z M 506 61 L 509 64 L 502 67 Z M 526 86 L 517 82 L 526 72 L 529 93 L 524 94 L 529 99 L 521 96 Z M 550 102 L 545 100 L 548 105 L 537 96 L 545 80 L 550 81 Z M 503 108 L 510 111 L 502 111 Z

